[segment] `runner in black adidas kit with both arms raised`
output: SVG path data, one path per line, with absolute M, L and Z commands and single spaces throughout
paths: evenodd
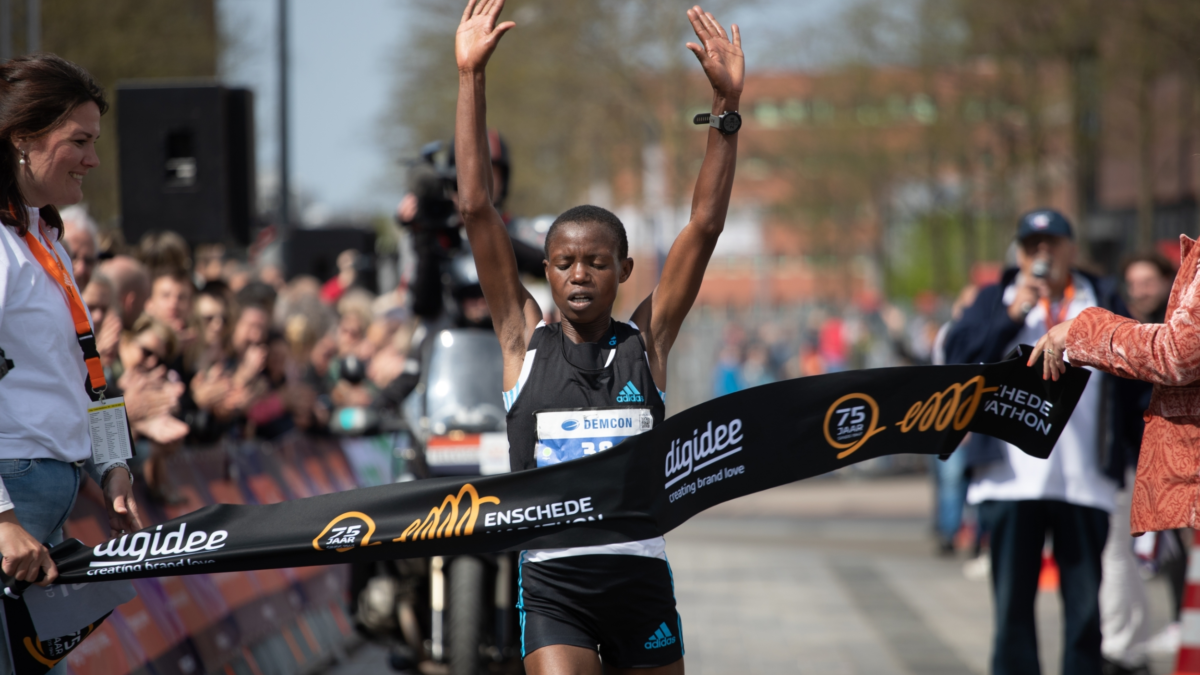
M 667 354 L 691 309 L 725 226 L 737 157 L 737 125 L 708 131 L 708 149 L 679 233 L 653 293 L 629 323 L 613 321 L 617 287 L 629 279 L 625 229 L 598 207 L 575 207 L 546 234 L 546 280 L 562 323 L 542 312 L 517 279 L 516 258 L 492 207 L 484 71 L 500 36 L 504 0 L 470 0 L 455 41 L 458 61 L 458 197 L 480 283 L 504 354 L 512 470 L 601 452 L 664 418 Z M 688 11 L 700 44 L 689 43 L 713 85 L 713 115 L 736 113 L 744 59 L 712 14 Z M 736 119 L 732 115 L 731 119 Z M 722 123 L 724 124 L 724 120 Z M 571 417 L 614 423 L 580 425 Z M 583 428 L 606 431 L 583 431 Z M 617 429 L 611 430 L 611 429 Z M 532 675 L 683 673 L 683 635 L 661 537 L 558 550 L 522 551 L 521 644 Z

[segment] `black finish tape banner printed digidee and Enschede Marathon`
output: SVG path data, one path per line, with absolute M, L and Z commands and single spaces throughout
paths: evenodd
M 533 471 L 216 504 L 97 546 L 54 551 L 59 584 L 564 548 L 646 539 L 751 492 L 968 431 L 1046 458 L 1090 376 L 1025 365 L 860 370 L 714 399 L 602 453 Z M 586 425 L 587 411 L 565 425 Z

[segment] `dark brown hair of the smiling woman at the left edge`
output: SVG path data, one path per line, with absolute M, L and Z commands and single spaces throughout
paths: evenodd
M 55 56 L 32 54 L 0 64 L 0 220 L 17 228 L 22 237 L 29 231 L 30 205 L 17 181 L 18 163 L 14 138 L 37 138 L 58 129 L 79 106 L 91 101 L 100 114 L 108 110 L 104 90 L 88 71 Z M 53 205 L 42 208 L 46 223 L 62 234 L 62 219 Z

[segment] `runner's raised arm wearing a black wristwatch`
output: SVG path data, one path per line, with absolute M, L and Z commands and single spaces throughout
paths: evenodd
M 700 40 L 700 44 L 689 42 L 688 49 L 696 54 L 713 85 L 713 117 L 736 112 L 745 79 L 742 34 L 737 24 L 730 26 L 731 38 L 713 14 L 698 6 L 688 10 L 688 20 Z M 725 228 L 737 154 L 737 133 L 725 135 L 716 129 L 708 130 L 704 163 L 700 168 L 691 199 L 691 219 L 667 253 L 658 287 L 632 316 L 634 323 L 642 329 L 650 369 L 660 387 L 666 384 L 667 352 L 700 293 L 704 268 L 708 267 L 716 239 Z

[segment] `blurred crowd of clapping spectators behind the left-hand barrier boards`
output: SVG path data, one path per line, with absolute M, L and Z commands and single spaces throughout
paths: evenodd
M 134 470 L 156 498 L 178 498 L 163 471 L 173 453 L 323 432 L 403 369 L 412 325 L 390 297 L 401 289 L 377 298 L 343 274 L 335 293 L 218 245 L 192 251 L 174 232 L 120 246 L 83 209 L 62 217 L 109 396 L 125 396 Z

